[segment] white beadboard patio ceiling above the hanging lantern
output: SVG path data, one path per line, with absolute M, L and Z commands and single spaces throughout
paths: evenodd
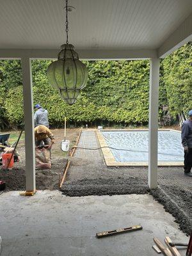
M 0 49 L 58 51 L 65 42 L 64 1 L 0 3 Z M 191 39 L 191 0 L 69 0 L 69 5 L 76 8 L 69 13 L 69 42 L 90 56 L 113 50 L 121 57 L 128 50 L 157 49 L 161 56 Z

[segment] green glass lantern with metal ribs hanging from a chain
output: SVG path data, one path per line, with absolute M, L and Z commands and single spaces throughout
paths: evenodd
M 47 78 L 51 86 L 59 90 L 65 102 L 72 105 L 79 97 L 81 89 L 86 86 L 87 69 L 79 60 L 77 52 L 74 51 L 74 46 L 68 44 L 68 0 L 65 3 L 67 42 L 61 45 L 58 60 L 49 65 Z

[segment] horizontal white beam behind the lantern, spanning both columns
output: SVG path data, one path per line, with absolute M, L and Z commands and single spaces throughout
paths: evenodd
M 59 49 L 0 49 L 0 59 L 27 57 L 31 59 L 56 59 Z M 142 60 L 157 57 L 156 50 L 127 49 L 127 50 L 99 50 L 76 49 L 79 58 L 83 60 Z

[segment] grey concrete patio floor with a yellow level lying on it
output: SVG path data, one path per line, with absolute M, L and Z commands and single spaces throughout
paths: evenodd
M 60 191 L 0 196 L 2 256 L 149 256 L 153 237 L 187 243 L 172 215 L 150 195 L 67 197 Z M 143 230 L 97 239 L 96 232 L 142 225 Z M 185 255 L 185 250 L 180 250 Z

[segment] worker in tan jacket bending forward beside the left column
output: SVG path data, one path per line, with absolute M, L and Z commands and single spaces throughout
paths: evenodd
M 45 125 L 35 127 L 36 168 L 51 169 L 51 147 L 54 135 Z

